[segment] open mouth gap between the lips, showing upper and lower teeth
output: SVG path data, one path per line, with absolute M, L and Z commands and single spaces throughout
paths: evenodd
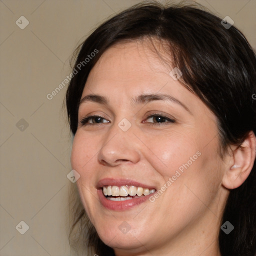
M 124 201 L 134 198 L 140 198 L 145 195 L 154 193 L 155 189 L 143 188 L 133 185 L 122 185 L 122 186 L 103 186 L 102 193 L 106 199 L 111 201 Z

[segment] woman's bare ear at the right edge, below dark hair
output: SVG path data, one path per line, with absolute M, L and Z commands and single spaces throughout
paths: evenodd
M 232 155 L 222 178 L 222 185 L 228 189 L 240 186 L 250 174 L 256 154 L 256 137 L 250 131 L 240 146 L 231 146 Z

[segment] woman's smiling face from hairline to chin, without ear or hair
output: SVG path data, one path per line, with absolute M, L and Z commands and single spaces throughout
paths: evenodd
M 91 222 L 116 254 L 163 255 L 217 237 L 224 189 L 216 118 L 172 68 L 146 43 L 119 43 L 82 92 L 71 165 Z

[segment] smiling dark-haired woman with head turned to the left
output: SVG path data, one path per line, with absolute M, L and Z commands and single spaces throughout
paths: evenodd
M 70 240 L 89 255 L 255 254 L 256 58 L 224 24 L 145 3 L 81 44 L 66 93 Z

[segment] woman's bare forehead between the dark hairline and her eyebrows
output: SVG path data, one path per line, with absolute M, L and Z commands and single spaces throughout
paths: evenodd
M 165 85 L 169 82 L 176 83 L 172 92 L 186 90 L 171 79 L 170 67 L 159 54 L 163 54 L 159 42 L 154 46 L 150 41 L 121 42 L 109 47 L 91 69 L 82 97 L 92 92 L 123 97 L 158 91 L 168 93 Z

